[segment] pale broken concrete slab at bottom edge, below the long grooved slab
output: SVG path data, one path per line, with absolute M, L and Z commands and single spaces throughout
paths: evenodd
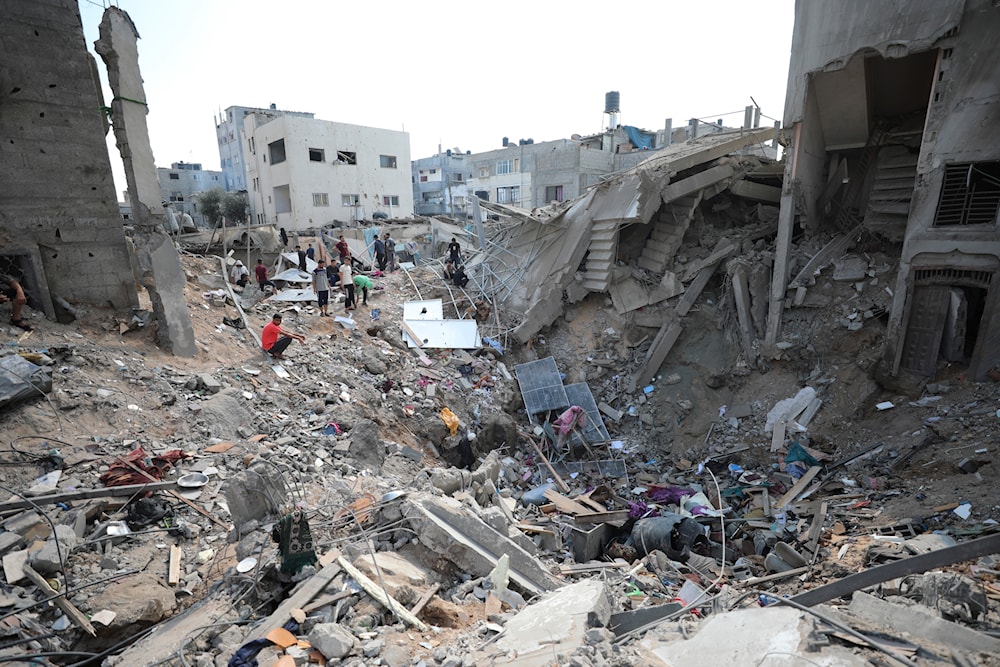
M 570 664 L 568 657 L 586 641 L 587 630 L 604 627 L 611 618 L 611 600 L 598 579 L 564 586 L 527 607 L 504 628 L 494 647 L 477 664 L 545 667 Z M 560 660 L 557 655 L 566 656 Z

